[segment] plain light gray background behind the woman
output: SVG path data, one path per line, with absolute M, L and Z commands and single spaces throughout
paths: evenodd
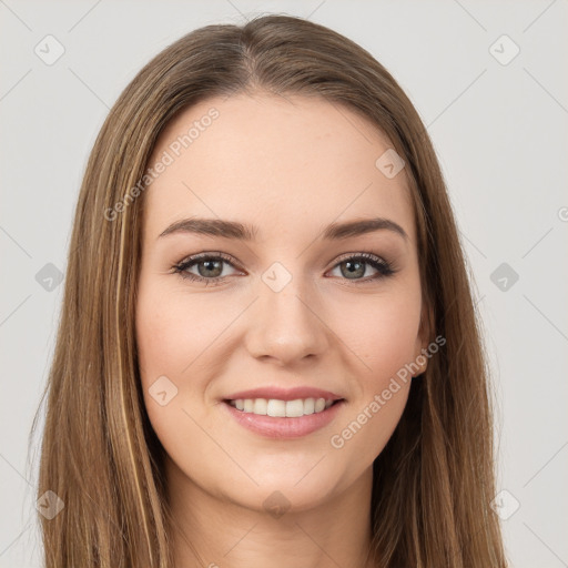
M 243 23 L 258 12 L 310 17 L 355 40 L 394 74 L 427 124 L 494 371 L 498 487 L 506 491 L 496 507 L 511 566 L 568 566 L 566 0 L 0 0 L 0 567 L 41 565 L 39 437 L 28 460 L 28 434 L 61 305 L 57 271 L 65 271 L 95 135 L 162 48 L 197 27 Z M 51 65 L 34 52 L 48 50 L 48 34 L 64 48 Z M 520 49 L 507 64 L 515 48 L 503 34 Z M 55 49 L 51 43 L 51 55 Z

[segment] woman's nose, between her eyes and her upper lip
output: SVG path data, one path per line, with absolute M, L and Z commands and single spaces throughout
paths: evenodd
M 313 359 L 329 348 L 332 332 L 325 324 L 325 314 L 300 280 L 292 278 L 280 291 L 260 283 L 260 297 L 248 311 L 245 341 L 253 357 L 288 366 Z

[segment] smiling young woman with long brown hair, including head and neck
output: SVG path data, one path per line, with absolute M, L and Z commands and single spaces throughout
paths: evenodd
M 487 375 L 445 183 L 390 74 L 300 18 L 193 31 L 87 166 L 47 567 L 504 567 Z

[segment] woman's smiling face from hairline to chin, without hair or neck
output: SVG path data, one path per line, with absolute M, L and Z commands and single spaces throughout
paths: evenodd
M 162 133 L 136 341 L 170 476 L 298 510 L 369 478 L 410 374 L 392 379 L 425 347 L 405 172 L 375 165 L 389 148 L 345 106 L 267 94 L 203 101 Z M 402 232 L 328 230 L 377 217 Z

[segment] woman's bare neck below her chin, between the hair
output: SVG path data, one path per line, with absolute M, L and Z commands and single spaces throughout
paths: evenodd
M 166 458 L 175 568 L 372 568 L 369 468 L 304 510 L 241 506 L 194 484 Z M 275 498 L 277 503 L 277 497 Z

